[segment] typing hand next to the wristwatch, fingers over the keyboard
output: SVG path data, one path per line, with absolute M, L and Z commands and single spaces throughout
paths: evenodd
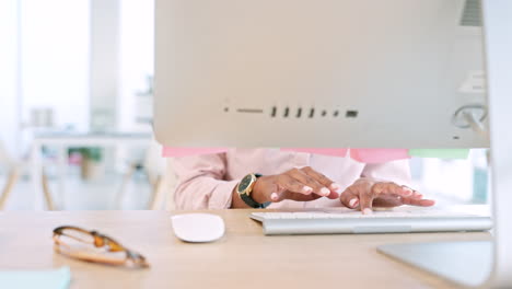
M 311 166 L 304 166 L 282 174 L 258 177 L 251 196 L 260 204 L 283 199 L 309 201 L 321 197 L 336 199 L 340 188 L 340 185 Z

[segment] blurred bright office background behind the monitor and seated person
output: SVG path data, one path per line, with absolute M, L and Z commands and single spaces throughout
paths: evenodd
M 3 209 L 33 209 L 45 193 L 55 209 L 154 205 L 165 160 L 151 129 L 153 9 L 150 0 L 0 0 Z M 411 167 L 415 186 L 443 201 L 488 199 L 486 150 L 415 158 Z

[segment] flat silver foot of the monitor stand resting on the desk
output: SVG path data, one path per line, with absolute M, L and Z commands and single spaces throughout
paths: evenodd
M 493 269 L 491 241 L 391 244 L 377 251 L 468 287 L 486 284 Z

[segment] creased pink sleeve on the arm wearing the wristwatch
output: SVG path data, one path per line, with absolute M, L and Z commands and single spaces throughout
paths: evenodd
M 223 181 L 225 153 L 175 158 L 173 169 L 177 176 L 174 193 L 176 209 L 231 207 L 232 192 L 238 181 Z

